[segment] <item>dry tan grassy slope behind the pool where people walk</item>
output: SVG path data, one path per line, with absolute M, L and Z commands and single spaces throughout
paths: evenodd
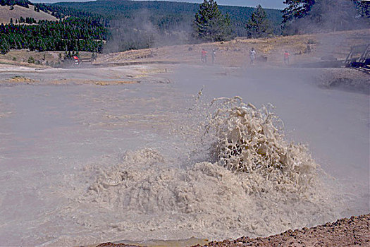
M 345 59 L 352 45 L 366 44 L 369 40 L 370 29 L 313 35 L 279 36 L 266 39 L 237 38 L 229 42 L 185 44 L 105 54 L 99 56 L 96 63 L 180 61 L 188 64 L 201 64 L 200 53 L 204 48 L 208 51 L 209 64 L 211 51 L 216 49 L 216 64 L 222 66 L 243 66 L 249 64 L 249 50 L 254 47 L 257 50 L 257 56 L 266 56 L 268 58 L 266 64 L 276 66 L 283 64 L 285 51 L 290 52 L 292 55 L 290 61 L 293 64 L 320 61 L 322 56 L 328 54 L 338 59 Z M 308 52 L 308 49 L 311 52 Z

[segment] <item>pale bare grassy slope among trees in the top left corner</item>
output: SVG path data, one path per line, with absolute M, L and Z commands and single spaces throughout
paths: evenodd
M 30 5 L 29 8 L 15 5 L 14 9 L 10 10 L 10 6 L 0 6 L 0 23 L 10 23 L 11 18 L 16 21 L 20 17 L 34 18 L 35 20 L 56 20 L 54 16 L 44 11 L 35 11 L 35 6 Z

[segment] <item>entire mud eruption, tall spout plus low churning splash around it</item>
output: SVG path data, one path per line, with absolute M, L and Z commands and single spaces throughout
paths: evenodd
M 204 141 L 198 152 L 209 150 L 203 162 L 171 164 L 142 149 L 109 167 L 86 167 L 92 183 L 75 203 L 97 214 L 95 220 L 80 214 L 78 224 L 109 229 L 112 240 L 223 239 L 267 236 L 339 216 L 326 175 L 306 147 L 285 140 L 269 107 L 235 97 L 214 100 L 210 109 L 216 110 L 206 124 L 199 123 Z

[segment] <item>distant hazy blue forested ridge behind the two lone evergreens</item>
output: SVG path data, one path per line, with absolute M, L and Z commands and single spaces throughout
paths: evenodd
M 124 20 L 144 16 L 161 30 L 188 25 L 194 20 L 199 4 L 171 1 L 121 1 L 97 0 L 88 2 L 61 2 L 56 6 L 76 8 L 81 11 L 98 13 L 110 20 Z M 239 6 L 219 6 L 223 14 L 228 13 L 233 23 L 233 30 L 238 36 L 245 36 L 245 24 L 255 8 Z M 276 32 L 279 32 L 282 13 L 278 9 L 266 9 L 267 18 Z

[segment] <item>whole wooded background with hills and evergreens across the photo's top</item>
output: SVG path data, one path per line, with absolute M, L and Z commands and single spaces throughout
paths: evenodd
M 97 0 L 32 5 L 28 0 L 0 0 L 0 11 L 5 10 L 7 15 L 20 13 L 18 9 L 35 14 L 11 17 L 0 26 L 0 52 L 9 49 L 122 52 L 229 40 L 235 36 L 269 37 L 369 28 L 369 4 L 359 0 L 285 0 L 287 8 L 283 13 L 261 6 L 213 6 L 202 10 L 207 3 L 216 1 L 190 4 Z M 48 18 L 42 19 L 37 14 Z

